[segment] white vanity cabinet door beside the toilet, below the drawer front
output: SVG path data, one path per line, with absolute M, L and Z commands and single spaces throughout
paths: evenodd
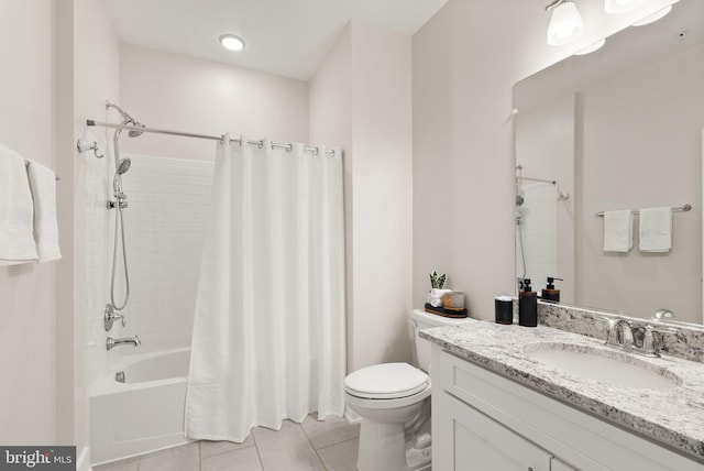
M 441 436 L 451 439 L 452 457 L 442 457 L 437 471 L 550 471 L 552 456 L 542 448 L 446 392 L 440 394 L 441 410 L 433 414 L 441 415 Z

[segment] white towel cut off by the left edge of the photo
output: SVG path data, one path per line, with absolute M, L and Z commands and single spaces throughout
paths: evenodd
M 0 265 L 37 260 L 34 207 L 24 158 L 0 145 Z

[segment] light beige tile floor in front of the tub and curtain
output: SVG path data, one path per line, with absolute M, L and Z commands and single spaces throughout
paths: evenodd
M 309 415 L 280 430 L 257 427 L 243 443 L 194 441 L 95 467 L 95 471 L 356 471 L 360 425 Z

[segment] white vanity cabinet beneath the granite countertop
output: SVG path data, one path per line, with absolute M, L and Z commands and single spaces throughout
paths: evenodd
M 433 471 L 704 470 L 439 344 L 431 364 Z

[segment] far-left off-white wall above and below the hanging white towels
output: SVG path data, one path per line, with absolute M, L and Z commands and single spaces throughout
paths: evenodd
M 46 0 L 0 0 L 0 143 L 54 169 L 55 8 Z M 56 440 L 57 263 L 65 262 L 0 266 L 3 445 Z

